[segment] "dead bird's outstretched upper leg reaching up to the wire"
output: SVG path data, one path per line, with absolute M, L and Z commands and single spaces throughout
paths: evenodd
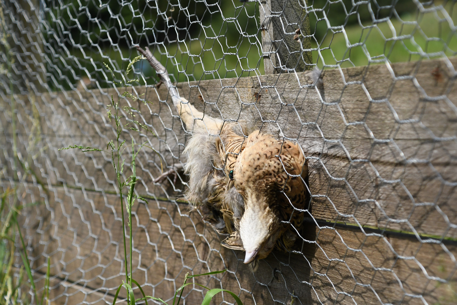
M 205 115 L 201 111 L 198 111 L 188 100 L 179 96 L 178 90 L 170 80 L 170 76 L 166 71 L 165 67 L 157 60 L 152 52 L 146 47 L 143 50 L 137 46 L 138 51 L 143 54 L 144 57 L 149 61 L 151 67 L 157 71 L 157 75 L 160 80 L 165 83 L 168 87 L 173 105 L 175 105 L 176 111 L 179 113 L 181 120 L 186 124 L 187 129 L 194 130 L 196 128 L 207 130 L 209 133 L 217 134 L 221 129 L 223 120 L 215 119 L 209 115 Z

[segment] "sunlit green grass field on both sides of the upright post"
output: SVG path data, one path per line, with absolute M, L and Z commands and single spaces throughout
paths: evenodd
M 253 12 L 252 12 L 253 13 Z M 450 14 L 446 16 L 446 14 Z M 236 14 L 234 14 L 236 15 Z M 447 18 L 447 19 L 446 19 Z M 312 18 L 311 18 L 312 19 Z M 372 22 L 348 25 L 338 30 L 325 28 L 315 30 L 315 23 L 311 24 L 311 33 L 315 33 L 316 40 L 312 42 L 313 62 L 319 68 L 334 68 L 368 65 L 384 62 L 404 62 L 412 60 L 451 57 L 456 55 L 457 34 L 452 29 L 452 21 L 457 20 L 457 10 L 452 3 L 440 12 L 431 11 L 420 14 L 417 11 L 404 12 L 399 17 L 372 25 Z M 221 33 L 235 35 L 233 24 L 221 24 Z M 313 27 L 314 25 L 314 27 Z M 219 28 L 219 25 L 212 25 Z M 235 31 L 236 32 L 236 31 Z M 238 38 L 239 42 L 230 41 L 230 35 L 222 38 L 226 45 L 236 45 L 238 48 L 223 49 L 219 43 L 221 38 L 206 39 L 201 47 L 200 41 L 185 42 L 179 45 L 168 46 L 166 52 L 172 58 L 174 66 L 169 69 L 176 80 L 185 82 L 196 79 L 212 79 L 226 77 L 252 76 L 264 74 L 263 59 L 260 57 L 261 49 L 259 40 L 252 38 Z M 319 37 L 320 41 L 319 41 Z M 236 38 L 236 37 L 235 37 Z M 232 42 L 232 44 L 230 44 Z M 233 54 L 224 54 L 231 52 Z M 164 60 L 165 49 L 154 52 L 158 58 Z M 162 54 L 162 55 L 161 55 Z M 190 55 L 192 54 L 192 55 Z M 198 55 L 198 56 L 196 56 Z M 195 57 L 193 57 L 195 56 Z M 166 59 L 165 59 L 166 60 Z M 252 71 L 243 71 L 252 70 Z M 179 70 L 179 71 L 178 71 Z M 185 72 L 183 72 L 185 71 Z M 152 71 L 151 71 L 152 72 Z M 201 76 L 199 78 L 199 76 Z

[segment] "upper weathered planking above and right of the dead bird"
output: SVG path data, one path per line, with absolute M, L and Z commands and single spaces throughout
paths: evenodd
M 457 101 L 446 64 L 324 71 L 319 94 L 306 73 L 222 80 L 222 93 L 216 82 L 180 87 L 191 101 L 215 103 L 207 114 L 298 139 L 321 203 L 315 217 L 456 237 Z

